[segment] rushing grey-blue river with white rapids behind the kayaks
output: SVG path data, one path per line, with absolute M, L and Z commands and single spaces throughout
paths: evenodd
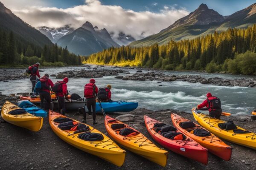
M 99 66 L 94 66 L 99 67 Z M 61 71 L 80 70 L 84 67 L 62 67 L 62 68 L 40 68 L 43 72 L 40 74 L 57 74 Z M 115 69 L 111 66 L 105 66 L 106 69 Z M 119 68 L 120 69 L 120 68 Z M 134 74 L 136 69 L 125 69 Z M 144 72 L 144 70 L 143 70 Z M 145 71 L 146 72 L 146 71 Z M 200 72 L 172 72 L 165 71 L 165 74 L 200 74 L 201 77 L 221 77 L 221 78 L 248 78 L 255 76 L 241 76 L 230 74 L 207 74 Z M 119 75 L 128 75 L 121 73 Z M 189 82 L 162 82 L 157 81 L 131 81 L 114 79 L 115 76 L 105 76 L 95 78 L 98 87 L 112 85 L 112 99 L 139 102 L 138 108 L 146 108 L 153 111 L 162 109 L 175 109 L 191 113 L 191 108 L 206 99 L 207 92 L 221 99 L 223 111 L 232 114 L 249 114 L 255 107 L 255 88 L 227 87 L 217 85 L 203 85 L 201 83 Z M 51 77 L 55 82 L 57 79 Z M 83 96 L 84 85 L 89 78 L 72 79 L 68 82 L 68 90 L 71 93 L 77 93 Z M 159 86 L 162 85 L 162 86 Z M 29 79 L 10 80 L 9 82 L 0 82 L 0 92 L 2 94 L 16 94 L 18 92 L 30 92 L 31 82 Z

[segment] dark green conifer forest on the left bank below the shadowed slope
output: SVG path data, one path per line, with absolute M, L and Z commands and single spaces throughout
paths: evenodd
M 13 32 L 0 30 L 0 65 L 32 65 L 41 62 L 44 66 L 81 65 L 81 57 L 70 53 L 57 44 L 34 45 Z

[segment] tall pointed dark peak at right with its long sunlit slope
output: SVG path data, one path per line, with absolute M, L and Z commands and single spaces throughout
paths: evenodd
M 224 21 L 224 17 L 213 9 L 209 9 L 206 4 L 201 4 L 189 15 L 175 21 L 168 28 L 163 29 L 158 34 L 151 35 L 142 40 L 134 41 L 131 46 L 165 44 L 170 40 L 181 40 L 193 38 L 202 34 L 209 34 Z

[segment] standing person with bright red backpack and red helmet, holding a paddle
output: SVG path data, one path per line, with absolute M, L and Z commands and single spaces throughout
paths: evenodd
M 98 88 L 95 85 L 95 79 L 90 79 L 90 83 L 84 86 L 84 97 L 86 99 L 86 106 L 88 109 L 88 114 L 92 113 L 93 109 L 93 125 L 97 124 L 96 122 L 96 95 L 98 94 Z M 84 120 L 86 123 L 86 113 L 83 114 Z

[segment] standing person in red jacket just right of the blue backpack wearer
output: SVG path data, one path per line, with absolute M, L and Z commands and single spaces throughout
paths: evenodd
M 68 95 L 67 82 L 68 82 L 68 78 L 67 77 L 65 77 L 60 82 L 56 82 L 56 83 L 60 83 L 59 92 L 56 93 L 56 96 L 57 96 L 57 99 L 58 99 L 58 111 L 62 115 L 65 115 L 65 112 L 66 112 L 65 98 L 67 99 L 67 95 Z

